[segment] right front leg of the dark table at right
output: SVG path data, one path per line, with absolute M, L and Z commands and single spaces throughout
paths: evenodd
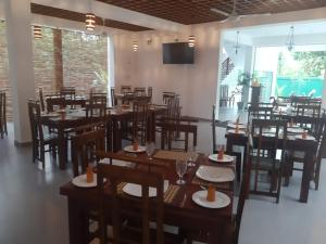
M 310 180 L 314 169 L 314 152 L 306 151 L 304 155 L 304 164 L 303 164 L 303 172 L 302 172 L 302 181 L 301 181 L 301 191 L 300 191 L 300 202 L 306 203 L 309 189 L 310 189 Z

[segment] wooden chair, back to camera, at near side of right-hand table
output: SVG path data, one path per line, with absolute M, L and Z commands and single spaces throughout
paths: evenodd
M 274 128 L 274 130 L 269 130 Z M 280 133 L 281 132 L 281 133 Z M 281 177 L 284 169 L 285 145 L 287 140 L 287 121 L 272 119 L 253 119 L 251 136 L 255 140 L 251 152 L 251 166 L 254 171 L 254 185 L 251 193 L 276 197 L 279 202 Z M 279 146 L 279 139 L 283 141 Z M 277 158 L 277 150 L 281 150 Z M 267 172 L 271 177 L 269 191 L 259 190 L 260 172 Z

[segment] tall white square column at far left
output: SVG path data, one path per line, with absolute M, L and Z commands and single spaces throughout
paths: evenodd
M 35 98 L 30 0 L 5 0 L 9 79 L 15 143 L 30 141 L 27 100 Z

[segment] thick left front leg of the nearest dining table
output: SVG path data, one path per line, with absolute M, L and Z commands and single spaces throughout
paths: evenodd
M 88 219 L 78 204 L 68 197 L 70 244 L 88 243 Z

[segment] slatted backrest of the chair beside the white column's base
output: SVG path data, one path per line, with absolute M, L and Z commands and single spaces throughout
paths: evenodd
M 43 129 L 41 125 L 40 105 L 38 101 L 28 100 L 28 115 L 33 141 L 43 141 Z

